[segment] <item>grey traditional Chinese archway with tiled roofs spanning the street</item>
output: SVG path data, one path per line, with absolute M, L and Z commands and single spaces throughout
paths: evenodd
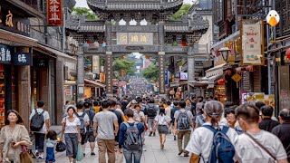
M 195 12 L 180 20 L 170 20 L 170 15 L 179 10 L 182 0 L 160 1 L 87 1 L 93 12 L 101 18 L 98 21 L 85 21 L 80 17 L 71 17 L 66 28 L 79 43 L 84 43 L 82 53 L 102 55 L 105 58 L 106 93 L 112 96 L 112 60 L 113 56 L 126 53 L 146 53 L 159 58 L 160 96 L 165 97 L 169 90 L 165 88 L 164 62 L 173 56 L 185 56 L 189 62 L 189 82 L 194 82 L 194 60 L 198 54 L 198 41 L 208 30 L 208 21 Z M 113 21 L 111 21 L 113 20 Z M 136 24 L 130 25 L 131 20 Z M 146 20 L 147 24 L 141 24 Z M 119 24 L 124 22 L 124 24 Z M 96 44 L 98 46 L 96 46 Z M 82 54 L 79 55 L 82 58 Z M 80 59 L 81 61 L 82 59 Z M 191 66 L 191 67 L 190 67 Z M 80 69 L 79 69 L 80 70 Z M 82 73 L 82 72 L 79 72 Z M 84 86 L 82 78 L 79 94 Z

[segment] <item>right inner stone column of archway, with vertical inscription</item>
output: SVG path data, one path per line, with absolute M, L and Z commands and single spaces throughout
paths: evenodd
M 166 90 L 165 90 L 165 52 L 164 52 L 164 22 L 161 21 L 158 24 L 158 37 L 159 37 L 159 44 L 160 44 L 160 52 L 158 53 L 158 62 L 159 62 L 159 87 L 160 87 L 160 98 L 167 98 L 166 97 Z

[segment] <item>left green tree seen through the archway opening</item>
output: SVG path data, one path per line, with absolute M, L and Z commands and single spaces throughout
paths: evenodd
M 113 72 L 118 72 L 118 75 L 115 77 L 120 80 L 122 71 L 125 72 L 126 75 L 133 75 L 135 73 L 135 62 L 116 58 L 113 62 L 112 69 Z

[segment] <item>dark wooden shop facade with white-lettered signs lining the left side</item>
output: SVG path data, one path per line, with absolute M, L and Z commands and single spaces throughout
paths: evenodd
M 13 109 L 20 112 L 27 126 L 36 101 L 44 101 L 52 124 L 61 123 L 57 115 L 63 115 L 63 101 L 59 99 L 64 92 L 64 73 L 57 69 L 59 61 L 75 64 L 76 59 L 63 53 L 62 28 L 47 26 L 45 13 L 43 1 L 1 2 L 1 125 L 6 111 Z

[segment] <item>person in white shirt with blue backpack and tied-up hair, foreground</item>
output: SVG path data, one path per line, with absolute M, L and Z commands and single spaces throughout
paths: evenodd
M 192 153 L 190 163 L 202 161 L 234 163 L 237 132 L 219 122 L 224 111 L 223 104 L 219 101 L 208 101 L 204 111 L 206 123 L 194 130 L 186 148 Z M 219 143 L 219 146 L 216 146 L 214 142 Z M 218 151 L 218 156 L 216 151 Z M 200 159 L 202 161 L 199 161 Z

